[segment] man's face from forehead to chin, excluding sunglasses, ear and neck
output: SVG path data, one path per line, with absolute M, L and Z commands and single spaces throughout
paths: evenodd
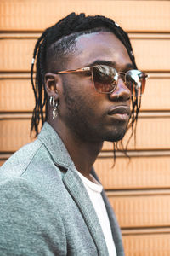
M 111 32 L 95 32 L 77 38 L 77 50 L 69 55 L 65 69 L 97 64 L 115 67 L 117 72 L 133 68 L 127 49 Z M 95 63 L 95 64 L 94 64 Z M 63 94 L 59 96 L 59 122 L 79 140 L 115 142 L 124 136 L 130 116 L 131 93 L 118 80 L 111 94 L 94 89 L 89 73 L 62 74 Z

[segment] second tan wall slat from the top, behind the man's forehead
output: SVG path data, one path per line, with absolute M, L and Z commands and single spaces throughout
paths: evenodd
M 162 38 L 153 40 L 153 38 L 147 38 L 146 35 L 145 38 L 133 38 L 132 35 L 131 41 L 139 67 L 146 71 L 168 71 L 170 66 L 169 40 Z M 0 55 L 3 57 L 0 60 L 1 71 L 28 72 L 35 42 L 36 39 L 33 38 L 29 38 L 29 41 L 27 38 L 4 38 L 1 40 Z M 10 55 L 9 59 L 8 55 Z

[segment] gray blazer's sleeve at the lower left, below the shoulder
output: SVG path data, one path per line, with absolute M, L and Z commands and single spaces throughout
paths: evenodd
M 59 212 L 23 178 L 0 183 L 0 255 L 66 255 Z

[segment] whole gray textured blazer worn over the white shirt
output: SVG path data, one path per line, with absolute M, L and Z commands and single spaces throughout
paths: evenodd
M 103 198 L 122 256 L 122 235 Z M 0 255 L 109 255 L 77 169 L 48 123 L 0 168 Z

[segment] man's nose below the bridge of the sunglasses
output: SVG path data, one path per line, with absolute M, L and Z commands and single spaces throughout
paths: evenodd
M 118 78 L 116 84 L 116 90 L 109 94 L 109 98 L 114 101 L 119 99 L 120 101 L 128 101 L 131 98 L 131 91 L 127 88 L 125 82 L 123 82 L 122 78 Z

